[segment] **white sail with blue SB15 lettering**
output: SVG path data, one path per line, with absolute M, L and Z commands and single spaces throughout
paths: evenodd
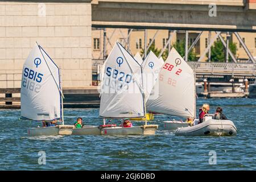
M 20 89 L 22 117 L 34 121 L 61 118 L 59 89 L 59 68 L 43 48 L 36 45 L 23 65 Z

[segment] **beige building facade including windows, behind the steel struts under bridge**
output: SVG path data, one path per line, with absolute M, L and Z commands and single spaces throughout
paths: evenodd
M 153 39 L 157 30 L 147 30 L 147 45 Z M 121 33 L 122 32 L 122 33 Z M 127 48 L 128 43 L 128 29 L 125 28 L 105 28 L 106 34 L 106 53 L 108 54 L 111 49 L 112 45 L 119 41 L 123 46 Z M 172 35 L 171 45 L 175 42 L 180 42 L 185 39 L 185 31 L 168 31 L 168 30 L 159 30 L 158 34 L 155 37 L 154 43 L 155 47 L 163 49 L 167 43 L 169 34 Z M 191 45 L 200 34 L 200 31 L 189 31 L 188 34 L 188 43 Z M 209 35 L 210 34 L 210 35 Z M 255 57 L 256 56 L 256 33 L 250 32 L 239 32 L 243 42 L 246 44 L 247 48 L 251 52 L 251 54 Z M 214 38 L 216 33 L 214 31 L 203 31 L 200 36 L 199 41 L 196 43 L 193 51 L 196 53 L 196 57 L 200 57 L 201 54 L 205 51 L 209 44 L 209 36 L 210 38 Z M 226 32 L 221 33 L 222 38 L 226 40 Z M 218 38 L 216 39 L 218 40 Z M 237 46 L 237 53 L 236 58 L 238 61 L 245 61 L 248 60 L 249 57 L 243 49 L 242 45 L 238 41 L 237 37 L 230 32 L 230 42 L 233 42 Z M 130 51 L 132 55 L 135 55 L 137 52 L 142 52 L 144 49 L 144 30 L 133 30 L 130 33 L 129 37 L 130 43 Z M 93 28 L 92 29 L 92 57 L 93 59 L 104 59 L 104 28 Z M 224 50 L 225 51 L 225 50 Z M 142 55 L 142 53 L 141 53 Z M 208 61 L 208 57 L 205 56 L 204 61 Z

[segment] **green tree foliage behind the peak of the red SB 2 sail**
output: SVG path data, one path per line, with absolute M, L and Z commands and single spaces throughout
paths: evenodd
M 190 46 L 190 45 L 189 45 Z M 188 47 L 189 47 L 188 46 Z M 177 52 L 179 52 L 181 57 L 185 56 L 185 39 L 181 40 L 180 42 L 175 42 L 173 47 L 176 49 Z M 166 60 L 168 57 L 168 49 L 166 49 L 163 53 L 163 59 Z M 195 49 L 192 49 L 188 53 L 188 61 L 196 61 L 196 53 Z

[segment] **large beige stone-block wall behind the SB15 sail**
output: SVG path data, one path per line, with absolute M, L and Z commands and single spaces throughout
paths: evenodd
M 20 87 L 23 63 L 36 41 L 63 69 L 64 88 L 91 85 L 91 19 L 90 1 L 0 2 L 0 88 Z

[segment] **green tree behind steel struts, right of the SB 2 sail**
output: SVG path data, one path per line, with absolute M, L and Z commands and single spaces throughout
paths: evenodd
M 233 42 L 229 42 L 229 49 L 233 53 L 233 55 L 236 55 L 237 44 Z M 224 62 L 226 60 L 225 53 L 226 53 L 226 48 L 223 46 L 221 40 L 215 41 L 213 46 L 210 48 L 210 61 Z M 229 61 L 232 61 L 230 56 L 229 56 Z

